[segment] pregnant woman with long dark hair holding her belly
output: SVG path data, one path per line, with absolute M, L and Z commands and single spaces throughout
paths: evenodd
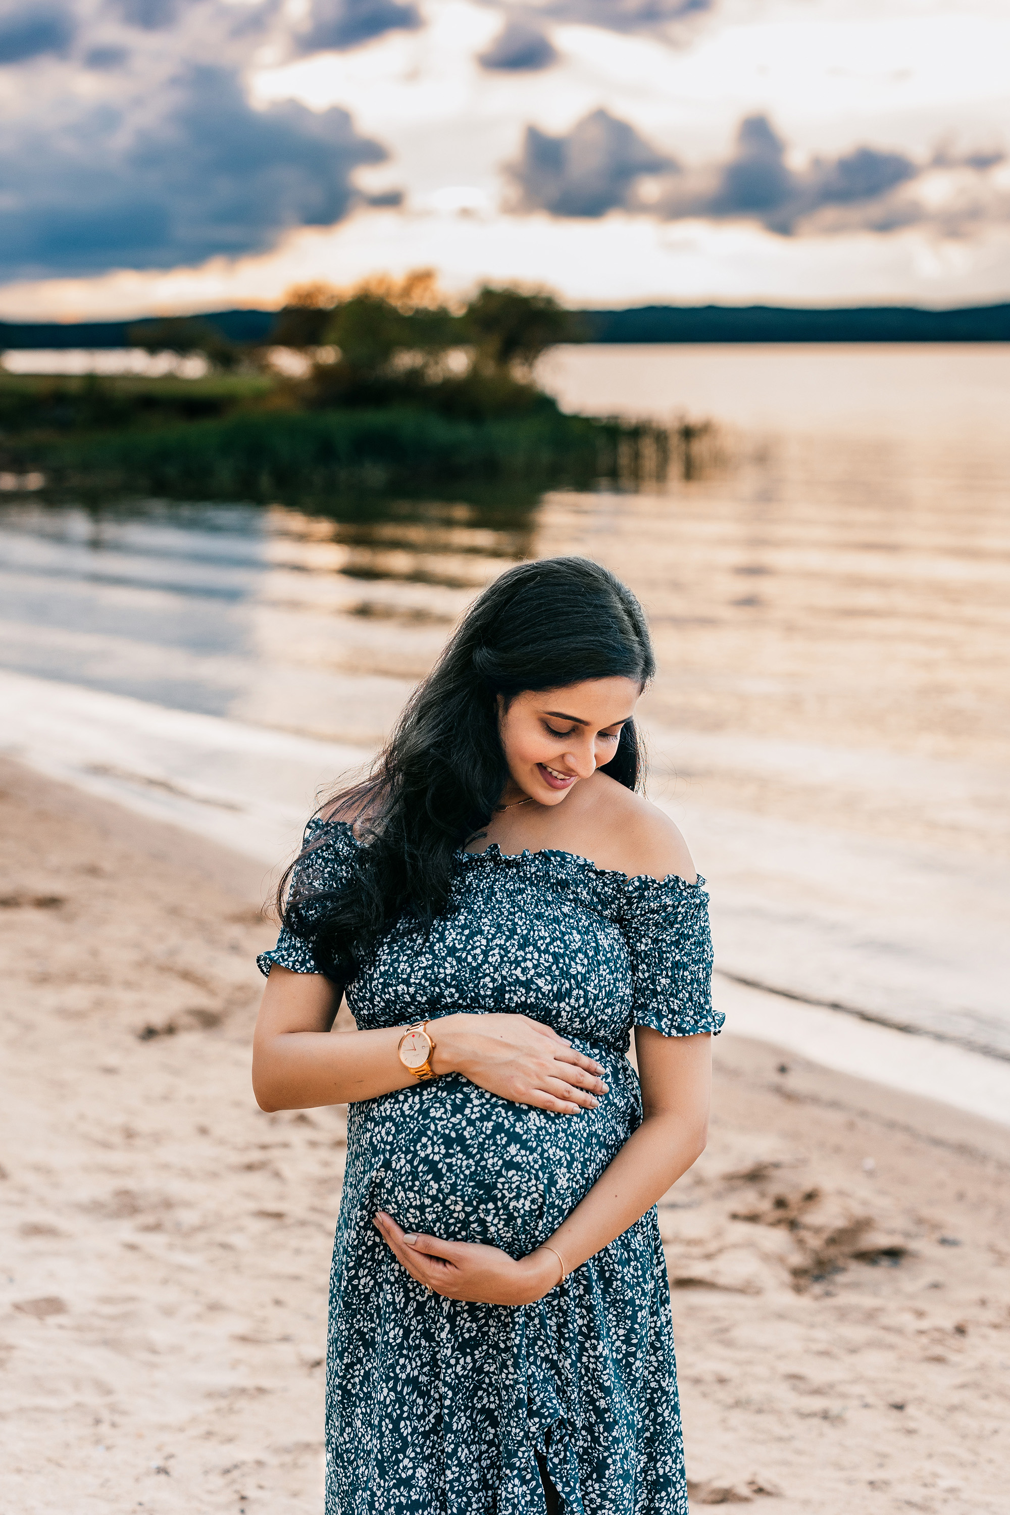
M 636 792 L 653 671 L 610 573 L 512 568 L 282 886 L 256 1097 L 350 1106 L 327 1515 L 687 1512 L 654 1206 L 721 1017 L 704 880 Z

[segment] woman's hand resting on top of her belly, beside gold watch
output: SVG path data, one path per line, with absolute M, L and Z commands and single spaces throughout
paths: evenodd
M 598 1062 L 528 1015 L 442 1015 L 429 1030 L 436 1073 L 462 1073 L 515 1104 L 577 1115 L 607 1092 Z

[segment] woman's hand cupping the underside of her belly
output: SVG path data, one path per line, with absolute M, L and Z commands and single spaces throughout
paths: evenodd
M 376 1215 L 376 1227 L 410 1277 L 447 1300 L 533 1304 L 559 1283 L 559 1262 L 551 1251 L 531 1251 L 516 1262 L 485 1242 L 406 1233 L 385 1210 Z

